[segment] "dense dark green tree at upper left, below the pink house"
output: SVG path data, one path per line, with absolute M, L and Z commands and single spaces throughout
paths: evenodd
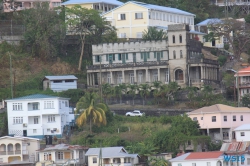
M 25 44 L 31 48 L 32 55 L 42 58 L 58 55 L 65 37 L 62 14 L 50 9 L 47 2 L 35 2 L 34 8 L 15 15 L 23 20 Z

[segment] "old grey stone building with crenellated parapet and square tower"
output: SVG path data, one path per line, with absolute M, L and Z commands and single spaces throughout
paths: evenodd
M 181 86 L 217 82 L 219 65 L 202 54 L 202 46 L 186 24 L 168 26 L 168 41 L 138 41 L 92 45 L 93 65 L 87 67 L 88 86 L 161 81 Z M 100 81 L 101 71 L 101 81 Z

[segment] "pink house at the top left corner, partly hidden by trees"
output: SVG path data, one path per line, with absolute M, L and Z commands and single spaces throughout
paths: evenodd
M 30 9 L 33 7 L 33 3 L 35 2 L 49 2 L 50 7 L 58 7 L 61 6 L 61 0 L 3 0 L 3 8 L 4 12 L 13 12 L 24 9 Z

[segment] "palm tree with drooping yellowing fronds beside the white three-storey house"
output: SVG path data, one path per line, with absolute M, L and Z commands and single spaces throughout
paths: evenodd
M 86 93 L 76 104 L 76 112 L 81 112 L 76 120 L 78 127 L 89 121 L 90 133 L 92 133 L 92 124 L 100 126 L 106 125 L 106 112 L 108 107 L 104 103 L 98 103 L 95 93 Z M 89 103 L 88 103 L 89 102 Z

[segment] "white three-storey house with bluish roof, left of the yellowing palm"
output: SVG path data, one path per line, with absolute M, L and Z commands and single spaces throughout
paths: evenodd
M 11 135 L 61 137 L 64 126 L 74 120 L 69 98 L 34 94 L 6 100 Z

